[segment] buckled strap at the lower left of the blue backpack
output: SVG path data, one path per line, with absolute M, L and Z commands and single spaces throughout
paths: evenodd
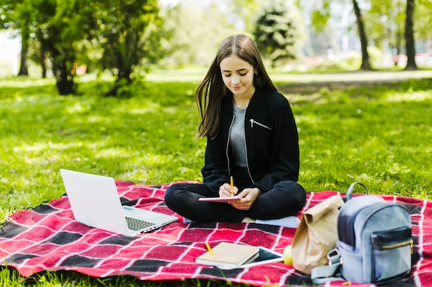
M 317 266 L 311 270 L 313 284 L 324 284 L 329 281 L 345 281 L 340 273 L 339 267 L 342 265 L 342 257 L 337 248 L 328 251 L 328 265 Z

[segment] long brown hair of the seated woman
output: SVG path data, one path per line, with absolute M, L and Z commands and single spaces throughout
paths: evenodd
M 257 46 L 253 40 L 244 34 L 228 36 L 219 45 L 213 63 L 210 65 L 204 80 L 198 85 L 195 91 L 195 100 L 201 116 L 201 123 L 198 127 L 198 136 L 209 136 L 215 138 L 219 133 L 220 110 L 222 99 L 229 94 L 230 90 L 225 86 L 220 71 L 220 63 L 226 57 L 235 54 L 240 59 L 251 64 L 257 74 L 253 78 L 255 87 L 265 87 L 277 91 L 266 72 L 262 63 Z

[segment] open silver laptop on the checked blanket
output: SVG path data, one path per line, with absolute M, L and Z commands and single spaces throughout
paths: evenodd
M 60 169 L 77 222 L 125 236 L 135 236 L 175 222 L 177 217 L 122 206 L 114 178 Z

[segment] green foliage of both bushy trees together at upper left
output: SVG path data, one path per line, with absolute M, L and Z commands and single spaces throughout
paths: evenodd
M 155 59 L 159 50 L 161 19 L 156 0 L 3 2 L 3 27 L 18 28 L 23 45 L 32 37 L 30 58 L 41 65 L 51 60 L 61 95 L 75 94 L 73 78 L 79 60 L 100 60 L 103 68 L 115 70 L 118 81 L 131 83 L 132 68 L 144 58 Z M 93 55 L 87 56 L 88 51 Z

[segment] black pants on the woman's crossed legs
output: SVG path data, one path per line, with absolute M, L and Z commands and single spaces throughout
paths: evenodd
M 239 187 L 239 191 L 242 188 Z M 306 191 L 293 181 L 275 184 L 273 189 L 259 195 L 251 209 L 242 211 L 230 204 L 202 202 L 199 198 L 214 197 L 204 184 L 174 184 L 166 190 L 166 205 L 177 214 L 195 222 L 242 222 L 244 217 L 271 220 L 295 215 L 306 202 Z

